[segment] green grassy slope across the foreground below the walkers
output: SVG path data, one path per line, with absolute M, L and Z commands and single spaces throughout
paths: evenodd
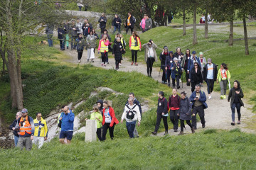
M 55 139 L 40 152 L 0 150 L 5 162 L 1 169 L 255 169 L 256 166 L 256 136 L 236 130 L 91 143 L 84 140 L 85 134 L 75 135 L 71 145 L 63 146 Z M 26 159 L 24 154 L 28 155 Z

